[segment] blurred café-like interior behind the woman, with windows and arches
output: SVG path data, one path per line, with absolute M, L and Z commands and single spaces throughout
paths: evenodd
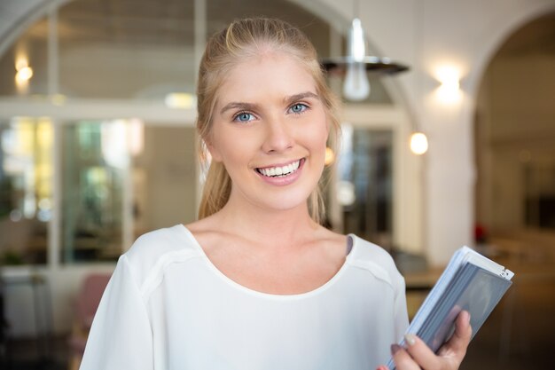
M 462 368 L 551 368 L 553 0 L 0 0 L 1 367 L 76 368 L 118 256 L 195 219 L 199 59 L 207 35 L 258 15 L 323 61 L 352 54 L 359 19 L 383 62 L 329 74 L 344 103 L 329 227 L 395 257 L 411 315 L 457 248 L 508 266 Z M 353 78 L 370 92 L 353 98 Z

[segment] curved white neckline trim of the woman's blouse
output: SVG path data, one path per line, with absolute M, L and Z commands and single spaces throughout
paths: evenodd
M 332 287 L 340 279 L 340 277 L 344 274 L 345 270 L 347 270 L 349 261 L 350 261 L 351 257 L 354 255 L 354 251 L 355 251 L 355 248 L 356 248 L 355 235 L 350 234 L 350 233 L 347 234 L 347 246 L 346 247 L 347 247 L 348 252 L 347 252 L 347 255 L 345 256 L 345 261 L 343 261 L 343 264 L 341 264 L 340 269 L 337 272 L 335 272 L 335 274 L 332 276 L 332 278 L 328 279 L 321 286 L 315 287 L 314 289 L 309 290 L 309 291 L 304 292 L 304 293 L 291 294 L 291 295 L 277 295 L 277 294 L 273 294 L 273 293 L 261 292 L 259 290 L 256 290 L 256 289 L 252 288 L 252 287 L 246 287 L 246 286 L 238 283 L 234 279 L 231 279 L 229 276 L 227 276 L 222 271 L 220 271 L 220 269 L 218 269 L 215 266 L 215 264 L 212 263 L 212 261 L 210 260 L 210 258 L 208 258 L 207 254 L 205 253 L 202 246 L 200 246 L 199 240 L 197 240 L 195 238 L 195 236 L 192 234 L 191 230 L 189 230 L 184 224 L 179 224 L 179 226 L 181 226 L 181 230 L 185 233 L 185 235 L 188 237 L 188 239 L 192 241 L 192 244 L 193 244 L 194 248 L 197 248 L 199 250 L 199 253 L 200 253 L 201 257 L 205 260 L 208 268 L 212 272 L 215 272 L 215 275 L 219 279 L 222 279 L 223 282 L 230 285 L 231 287 L 235 287 L 238 290 L 243 291 L 243 292 L 245 292 L 249 295 L 257 295 L 257 296 L 261 296 L 261 297 L 264 297 L 264 298 L 270 298 L 270 299 L 281 299 L 281 300 L 301 299 L 301 298 L 308 298 L 310 296 L 318 295 L 318 294 L 323 293 L 324 291 L 326 291 L 327 289 Z

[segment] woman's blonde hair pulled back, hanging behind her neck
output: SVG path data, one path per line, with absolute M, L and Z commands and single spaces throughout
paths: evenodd
M 330 141 L 338 140 L 340 121 L 337 114 L 337 99 L 327 87 L 324 72 L 317 61 L 317 51 L 309 38 L 300 29 L 294 28 L 283 20 L 254 18 L 234 20 L 207 42 L 200 61 L 199 81 L 197 83 L 197 130 L 199 133 L 200 158 L 207 163 L 207 147 L 212 130 L 217 91 L 225 75 L 242 61 L 261 55 L 265 51 L 284 52 L 297 59 L 307 68 L 314 78 L 317 94 L 324 103 L 330 121 Z M 337 153 L 337 152 L 336 152 Z M 324 219 L 323 180 L 309 196 L 310 216 L 321 223 Z M 231 194 L 231 178 L 223 163 L 212 161 L 207 171 L 199 218 L 214 214 L 223 208 Z

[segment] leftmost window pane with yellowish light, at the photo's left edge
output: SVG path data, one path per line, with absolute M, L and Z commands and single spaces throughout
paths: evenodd
M 0 122 L 0 259 L 45 264 L 52 205 L 53 125 L 48 119 Z

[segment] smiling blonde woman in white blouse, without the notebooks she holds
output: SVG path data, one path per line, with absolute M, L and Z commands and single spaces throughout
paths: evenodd
M 121 256 L 82 369 L 369 369 L 391 351 L 399 369 L 456 369 L 467 315 L 440 356 L 415 337 L 391 347 L 408 325 L 395 264 L 318 223 L 339 123 L 307 37 L 231 23 L 207 43 L 197 94 L 211 155 L 199 221 Z

